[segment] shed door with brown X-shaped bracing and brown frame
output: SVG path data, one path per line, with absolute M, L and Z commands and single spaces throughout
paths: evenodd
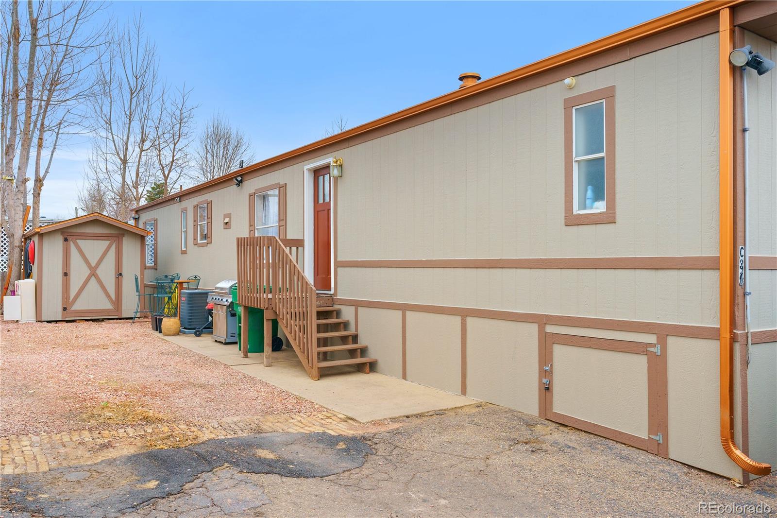
M 62 318 L 120 317 L 120 234 L 62 234 Z

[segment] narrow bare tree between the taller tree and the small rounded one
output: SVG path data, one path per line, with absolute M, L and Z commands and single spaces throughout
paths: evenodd
M 179 182 L 191 161 L 189 148 L 197 108 L 190 102 L 191 92 L 184 84 L 175 93 L 163 88 L 159 98 L 152 150 L 159 175 L 157 180 L 164 187 L 163 196 L 170 194 L 171 186 Z

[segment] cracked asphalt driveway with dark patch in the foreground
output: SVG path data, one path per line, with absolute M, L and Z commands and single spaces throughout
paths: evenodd
M 3 505 L 9 516 L 698 516 L 700 502 L 777 513 L 775 474 L 735 487 L 504 408 L 403 422 L 368 436 L 218 439 L 18 475 L 4 479 Z

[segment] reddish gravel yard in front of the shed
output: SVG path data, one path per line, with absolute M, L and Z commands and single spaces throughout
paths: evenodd
M 146 422 L 325 411 L 145 333 L 147 325 L 0 324 L 0 436 L 143 424 L 143 418 L 136 423 L 99 418 L 102 408 L 118 404 L 137 410 Z

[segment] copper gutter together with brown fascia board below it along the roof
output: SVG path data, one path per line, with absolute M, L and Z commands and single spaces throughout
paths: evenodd
M 716 33 L 718 30 L 717 12 L 725 7 L 743 3 L 745 2 L 699 2 L 699 4 L 690 5 L 685 9 L 671 12 L 608 37 L 536 61 L 511 72 L 485 79 L 467 88 L 456 89 L 332 137 L 323 138 L 254 163 L 218 179 L 140 205 L 134 210 L 143 212 L 158 205 L 169 205 L 175 202 L 176 197 L 179 197 L 181 201 L 186 201 L 220 189 L 222 182 L 227 182 L 237 176 L 242 176 L 244 181 L 250 180 L 283 169 L 286 166 L 304 163 L 317 156 L 332 154 L 362 142 L 368 142 L 463 110 L 469 110 L 472 107 L 500 100 L 516 93 L 545 86 L 566 77 L 615 65 L 615 63 L 627 61 L 643 54 Z

